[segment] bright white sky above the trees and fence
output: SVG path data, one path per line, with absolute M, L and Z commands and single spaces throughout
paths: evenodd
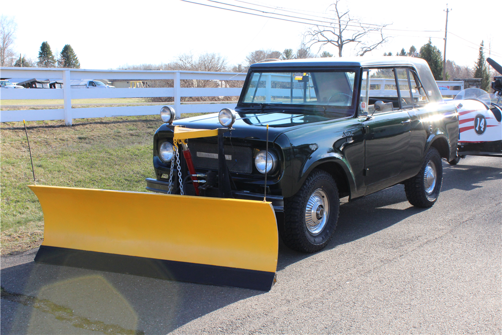
M 330 17 L 327 11 L 334 0 L 189 0 L 213 7 L 230 5 L 261 9 L 264 12 Z M 81 68 L 116 69 L 124 65 L 161 64 L 174 61 L 180 54 L 217 53 L 229 65 L 245 64 L 252 51 L 298 49 L 311 24 L 231 12 L 182 0 L 68 1 L 48 6 L 40 0 L 22 3 L 2 0 L 0 13 L 14 17 L 17 24 L 14 49 L 17 54 L 36 60 L 40 45 L 47 41 L 53 53 L 65 44 L 75 51 Z M 339 8 L 364 24 L 388 24 L 389 41 L 366 56 L 396 54 L 414 45 L 417 49 L 431 38 L 441 52 L 444 49 L 446 12 L 448 36 L 446 58 L 456 64 L 473 67 L 484 40 L 485 57 L 502 64 L 499 0 L 478 2 L 450 0 L 340 0 Z M 20 6 L 22 4 L 22 6 Z M 257 7 L 257 5 L 272 8 Z M 282 9 L 282 11 L 281 11 Z M 333 7 L 330 7 L 333 9 Z M 284 10 L 296 12 L 284 12 Z M 270 16 L 254 11 L 253 13 Z M 494 13 L 494 14 L 493 14 Z M 294 18 L 282 17 L 299 21 Z M 492 19 L 493 18 L 493 19 Z M 498 20 L 495 20 L 498 18 Z M 391 30 L 392 29 L 392 30 Z M 497 34 L 498 33 L 498 34 Z M 378 38 L 379 35 L 371 35 Z M 348 37 L 348 36 L 347 36 Z M 334 47 L 321 51 L 337 55 Z M 314 53 L 319 50 L 312 48 Z M 355 56 L 346 46 L 343 56 Z

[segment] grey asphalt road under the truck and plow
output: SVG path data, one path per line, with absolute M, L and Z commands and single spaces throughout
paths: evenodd
M 280 244 L 266 293 L 3 257 L 1 332 L 500 334 L 502 159 L 443 166 L 432 208 L 398 185 L 343 203 L 322 252 Z

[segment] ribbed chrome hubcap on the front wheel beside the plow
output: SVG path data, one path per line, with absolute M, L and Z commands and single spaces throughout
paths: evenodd
M 316 189 L 305 207 L 305 224 L 310 234 L 317 235 L 324 229 L 329 217 L 329 199 L 323 189 Z

